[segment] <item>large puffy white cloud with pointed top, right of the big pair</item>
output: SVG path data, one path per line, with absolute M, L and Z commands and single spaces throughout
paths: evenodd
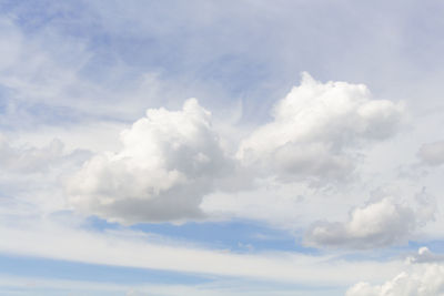
M 362 143 L 398 130 L 403 105 L 372 100 L 363 84 L 321 83 L 303 73 L 272 116 L 242 141 L 238 157 L 245 165 L 283 177 L 337 180 L 353 171 Z

